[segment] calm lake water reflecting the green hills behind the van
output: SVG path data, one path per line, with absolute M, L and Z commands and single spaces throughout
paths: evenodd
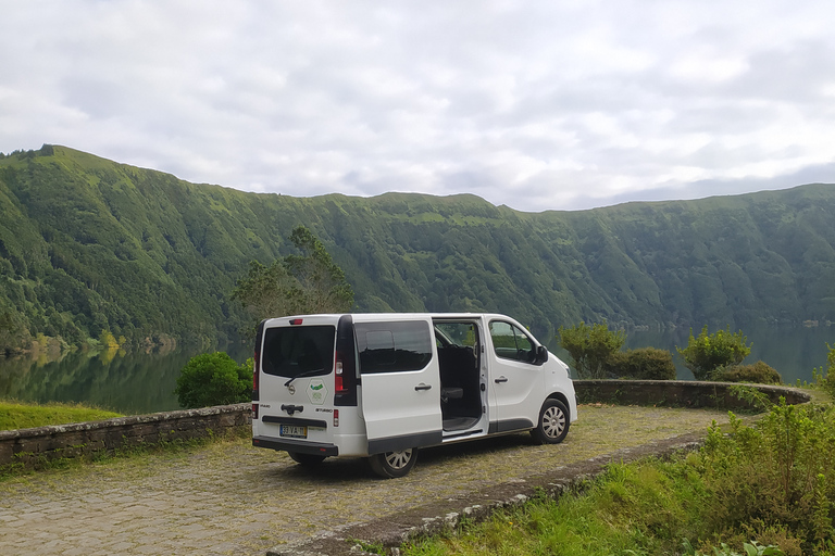
M 694 330 L 698 334 L 699 330 Z M 713 332 L 714 330 L 711 330 Z M 732 330 L 736 331 L 736 330 Z M 744 329 L 753 343 L 745 363 L 764 361 L 781 374 L 783 381 L 811 381 L 812 369 L 826 365 L 826 342 L 835 346 L 835 326 L 815 328 L 760 327 Z M 675 346 L 687 345 L 688 329 L 632 332 L 626 348 L 670 350 L 678 378 L 691 380 Z M 540 339 L 546 340 L 546 339 Z M 549 349 L 568 362 L 556 340 Z M 238 363 L 252 356 L 251 349 L 235 345 L 225 350 Z M 0 357 L 0 399 L 47 402 L 83 402 L 125 415 L 178 409 L 173 393 L 179 370 L 200 351 L 177 349 L 167 353 L 102 352 L 70 353 L 61 361 Z

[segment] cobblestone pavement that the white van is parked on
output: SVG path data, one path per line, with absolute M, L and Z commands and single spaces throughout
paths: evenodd
M 581 406 L 562 444 L 527 434 L 424 450 L 403 479 L 361 459 L 310 471 L 248 439 L 0 482 L 0 554 L 263 555 L 428 501 L 705 429 L 723 410 Z

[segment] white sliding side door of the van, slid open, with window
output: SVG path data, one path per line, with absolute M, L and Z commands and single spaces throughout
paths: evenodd
M 440 444 L 440 370 L 432 321 L 354 319 L 369 454 Z

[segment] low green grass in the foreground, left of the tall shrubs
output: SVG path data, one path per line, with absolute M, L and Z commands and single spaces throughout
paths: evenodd
M 686 519 L 674 484 L 658 463 L 611 465 L 582 495 L 547 496 L 497 511 L 483 523 L 419 541 L 410 556 L 495 554 L 663 554 L 677 546 L 648 534 Z M 576 493 L 575 493 L 576 494 Z M 632 552 L 630 552 L 632 551 Z

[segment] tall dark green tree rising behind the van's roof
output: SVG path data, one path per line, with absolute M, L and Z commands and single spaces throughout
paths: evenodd
M 292 230 L 290 241 L 301 254 L 276 258 L 270 266 L 251 261 L 232 299 L 238 300 L 256 321 L 350 311 L 353 290 L 322 242 L 304 226 Z

